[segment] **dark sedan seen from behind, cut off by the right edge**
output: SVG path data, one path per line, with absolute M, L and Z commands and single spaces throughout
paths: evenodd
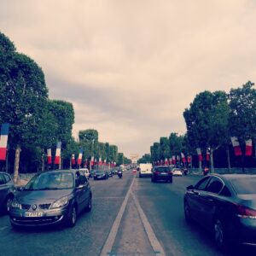
M 184 216 L 212 231 L 219 249 L 256 244 L 256 175 L 209 174 L 187 187 Z

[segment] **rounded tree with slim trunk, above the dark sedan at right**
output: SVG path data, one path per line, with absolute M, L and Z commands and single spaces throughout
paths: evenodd
M 213 151 L 225 143 L 229 134 L 229 114 L 224 91 L 201 92 L 183 112 L 189 142 L 196 148 L 210 149 L 212 172 Z

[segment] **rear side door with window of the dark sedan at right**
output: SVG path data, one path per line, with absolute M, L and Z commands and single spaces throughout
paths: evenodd
M 218 193 L 224 187 L 223 181 L 219 177 L 212 177 L 207 187 L 199 195 L 199 216 L 201 223 L 211 228 L 212 217 L 218 207 Z

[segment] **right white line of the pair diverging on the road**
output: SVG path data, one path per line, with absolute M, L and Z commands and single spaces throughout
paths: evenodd
M 145 228 L 146 233 L 148 235 L 148 240 L 150 241 L 151 246 L 154 249 L 154 253 L 157 253 L 157 255 L 160 255 L 160 256 L 165 256 L 166 253 L 165 253 L 163 247 L 160 245 L 160 242 L 158 241 L 158 239 L 154 235 L 154 230 L 151 228 L 151 225 L 148 222 L 148 218 L 146 217 L 145 213 L 143 212 L 143 209 L 140 206 L 139 202 L 137 201 L 137 198 L 133 194 L 133 192 L 131 192 L 131 196 L 133 198 L 133 201 L 136 204 L 137 211 L 139 212 L 139 215 L 140 215 L 140 217 L 143 221 L 144 228 Z

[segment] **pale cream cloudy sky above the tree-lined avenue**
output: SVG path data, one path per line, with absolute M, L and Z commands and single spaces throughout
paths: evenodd
M 96 129 L 148 154 L 204 90 L 256 76 L 255 0 L 0 0 L 0 31 L 42 67 L 49 98 L 73 103 L 73 136 Z

